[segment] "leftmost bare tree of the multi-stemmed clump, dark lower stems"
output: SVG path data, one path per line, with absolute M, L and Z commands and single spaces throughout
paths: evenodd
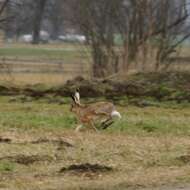
M 77 3 L 78 2 L 78 3 Z M 114 47 L 114 16 L 118 3 L 115 0 L 105 1 L 69 1 L 71 20 L 87 37 L 92 47 L 93 75 L 105 77 L 118 70 L 118 55 Z M 73 13 L 73 12 L 72 12 Z

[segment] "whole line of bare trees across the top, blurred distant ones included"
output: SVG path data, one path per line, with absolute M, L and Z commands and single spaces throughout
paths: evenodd
M 7 36 L 49 28 L 52 39 L 74 29 L 86 36 L 93 75 L 166 69 L 190 36 L 187 0 L 9 0 Z

